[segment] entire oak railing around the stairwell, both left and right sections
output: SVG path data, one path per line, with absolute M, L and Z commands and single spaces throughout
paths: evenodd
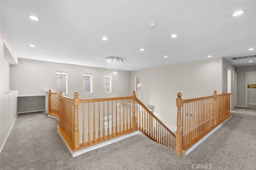
M 138 98 L 67 98 L 49 90 L 48 113 L 59 118 L 59 131 L 74 152 L 140 130 L 152 140 L 186 156 L 186 150 L 230 116 L 230 94 L 176 99 L 177 132 L 168 129 Z M 78 110 L 79 106 L 79 110 Z M 80 129 L 78 128 L 80 125 Z M 81 134 L 80 134 L 81 132 Z

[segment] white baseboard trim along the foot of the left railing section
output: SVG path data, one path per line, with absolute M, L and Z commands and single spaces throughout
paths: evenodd
M 60 131 L 58 130 L 58 133 L 60 134 Z M 145 135 L 144 133 L 142 133 L 140 130 L 138 131 L 134 131 L 134 132 L 131 132 L 131 133 L 128 133 L 126 135 L 122 135 L 120 137 L 116 137 L 114 139 L 110 139 L 108 141 L 105 141 L 105 142 L 102 142 L 102 143 L 99 143 L 97 145 L 93 145 L 91 147 L 88 147 L 88 148 L 85 148 L 85 149 L 81 149 L 81 150 L 78 150 L 76 152 L 73 152 L 70 147 L 68 146 L 68 143 L 66 143 L 66 141 L 64 140 L 64 138 L 62 137 L 62 135 L 60 134 L 60 137 L 62 138 L 62 140 L 64 141 L 64 143 L 66 144 L 66 146 L 68 147 L 68 150 L 70 151 L 70 153 L 72 154 L 73 157 L 76 157 L 80 154 L 83 154 L 85 152 L 88 152 L 88 151 L 91 151 L 91 150 L 94 150 L 94 149 L 98 149 L 98 148 L 101 148 L 101 147 L 105 147 L 107 145 L 110 145 L 112 143 L 115 143 L 115 142 L 118 142 L 118 141 L 121 141 L 123 139 L 126 139 L 128 137 L 132 137 L 134 135 L 141 135 L 143 137 L 147 137 L 149 139 L 151 139 L 150 137 L 148 137 L 147 135 Z

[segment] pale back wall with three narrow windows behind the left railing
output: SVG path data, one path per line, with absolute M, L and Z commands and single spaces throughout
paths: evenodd
M 74 93 L 78 92 L 80 99 L 110 97 L 104 93 L 103 82 L 104 74 L 110 74 L 113 70 L 27 59 L 19 59 L 18 65 L 11 66 L 11 89 L 18 90 L 19 95 L 44 94 L 44 90 L 49 89 L 55 92 L 56 71 L 68 74 L 68 94 L 64 96 L 74 98 Z M 83 93 L 83 73 L 92 74 L 92 93 Z M 130 72 L 120 71 L 118 80 L 112 81 L 112 92 L 119 97 L 132 96 L 129 78 Z

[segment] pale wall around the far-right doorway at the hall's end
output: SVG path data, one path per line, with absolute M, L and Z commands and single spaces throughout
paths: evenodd
M 245 107 L 245 73 L 255 69 L 256 66 L 237 67 L 237 106 Z

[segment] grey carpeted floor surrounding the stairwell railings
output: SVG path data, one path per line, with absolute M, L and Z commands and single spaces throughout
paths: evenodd
M 19 114 L 0 154 L 1 170 L 256 170 L 256 109 L 233 117 L 186 158 L 136 135 L 72 157 L 57 133 L 58 121 L 42 112 Z

